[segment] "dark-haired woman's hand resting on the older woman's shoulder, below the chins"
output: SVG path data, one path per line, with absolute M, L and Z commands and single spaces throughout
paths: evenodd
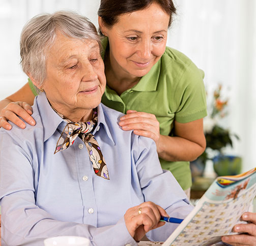
M 156 145 L 159 142 L 159 122 L 153 114 L 128 110 L 127 115 L 120 118 L 119 125 L 123 130 L 134 130 L 136 135 L 152 138 Z

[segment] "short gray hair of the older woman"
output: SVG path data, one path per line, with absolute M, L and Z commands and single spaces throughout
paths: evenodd
M 20 63 L 24 73 L 30 74 L 38 87 L 46 79 L 47 51 L 55 41 L 57 30 L 67 37 L 95 40 L 100 45 L 94 24 L 75 12 L 58 11 L 33 17 L 21 32 Z

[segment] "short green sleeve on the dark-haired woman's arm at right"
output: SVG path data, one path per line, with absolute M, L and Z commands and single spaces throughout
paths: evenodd
M 187 123 L 207 116 L 204 72 L 193 62 L 184 68 L 170 97 L 176 106 L 175 120 Z

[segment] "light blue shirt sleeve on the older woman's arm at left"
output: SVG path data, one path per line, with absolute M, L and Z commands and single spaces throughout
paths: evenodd
M 36 205 L 33 156 L 21 139 L 1 130 L 0 149 L 3 245 L 43 246 L 44 239 L 62 235 L 87 237 L 91 245 L 137 245 L 123 218 L 116 225 L 101 228 L 55 220 Z

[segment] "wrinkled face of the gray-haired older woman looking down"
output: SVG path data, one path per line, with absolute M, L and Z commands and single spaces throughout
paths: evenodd
M 52 106 L 57 111 L 91 110 L 99 105 L 105 85 L 97 41 L 71 39 L 58 32 L 47 53 L 42 86 Z

